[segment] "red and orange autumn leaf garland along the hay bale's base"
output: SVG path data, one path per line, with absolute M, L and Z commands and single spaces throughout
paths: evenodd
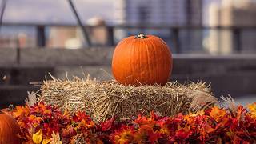
M 214 106 L 194 114 L 114 118 L 96 124 L 85 112 L 61 112 L 43 102 L 16 106 L 12 115 L 21 128 L 23 143 L 254 143 L 256 102 L 237 111 Z

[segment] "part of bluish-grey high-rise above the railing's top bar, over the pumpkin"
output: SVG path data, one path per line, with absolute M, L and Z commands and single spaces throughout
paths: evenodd
M 201 0 L 119 0 L 115 22 L 126 25 L 201 25 Z

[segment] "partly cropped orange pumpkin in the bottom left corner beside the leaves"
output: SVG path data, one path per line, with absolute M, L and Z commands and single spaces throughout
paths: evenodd
M 18 123 L 10 114 L 0 114 L 0 144 L 18 144 Z

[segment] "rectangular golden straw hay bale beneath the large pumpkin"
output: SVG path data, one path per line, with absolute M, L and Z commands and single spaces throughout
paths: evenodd
M 187 114 L 218 102 L 203 82 L 168 82 L 166 86 L 123 86 L 90 78 L 45 81 L 40 100 L 62 110 L 86 110 L 96 122 L 130 118 L 154 110 L 162 115 Z

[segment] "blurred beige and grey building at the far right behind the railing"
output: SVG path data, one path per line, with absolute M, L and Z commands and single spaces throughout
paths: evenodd
M 222 0 L 220 6 L 212 3 L 209 8 L 210 26 L 256 26 L 256 2 L 250 0 Z M 236 39 L 232 30 L 210 30 L 206 38 L 206 49 L 212 54 L 235 52 Z M 242 52 L 256 52 L 256 31 L 241 30 Z

